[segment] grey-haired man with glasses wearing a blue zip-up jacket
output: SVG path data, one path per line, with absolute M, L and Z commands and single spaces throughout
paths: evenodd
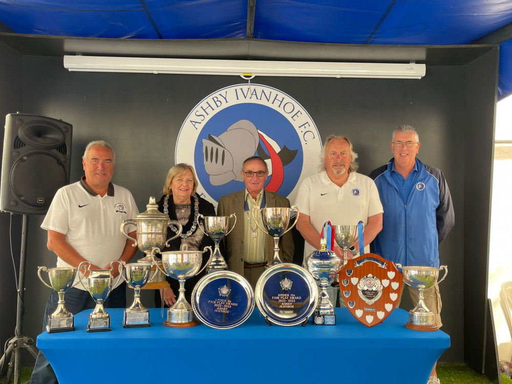
M 382 231 L 373 241 L 374 252 L 403 266 L 439 267 L 439 244 L 453 228 L 450 189 L 440 169 L 416 158 L 419 136 L 411 125 L 393 131 L 393 159 L 370 174 L 384 209 Z M 418 290 L 409 287 L 414 305 Z M 441 327 L 439 288 L 424 291 L 425 305 Z M 427 384 L 439 383 L 436 366 Z

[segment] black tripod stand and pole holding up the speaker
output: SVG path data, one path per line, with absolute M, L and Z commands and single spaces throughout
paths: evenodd
M 25 293 L 25 259 L 27 250 L 27 227 L 28 227 L 28 216 L 23 215 L 22 223 L 22 247 L 19 254 L 19 275 L 18 275 L 18 306 L 16 310 L 16 329 L 14 330 L 14 337 L 9 341 L 9 346 L 4 352 L 2 358 L 0 358 L 0 376 L 6 371 L 7 365 L 7 377 L 6 382 L 10 382 L 12 373 L 14 372 L 14 384 L 20 384 L 20 372 L 22 370 L 22 356 L 21 349 L 26 348 L 32 354 L 37 357 L 39 350 L 34 346 L 34 340 L 30 337 L 23 336 L 23 315 L 25 308 L 23 306 L 23 297 Z

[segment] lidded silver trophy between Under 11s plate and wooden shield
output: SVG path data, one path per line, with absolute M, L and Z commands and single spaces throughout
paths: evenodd
M 320 239 L 320 249 L 306 257 L 306 266 L 320 288 L 318 306 L 313 314 L 313 324 L 316 325 L 336 325 L 336 315 L 329 300 L 327 287 L 331 285 L 339 270 L 347 264 L 338 258 L 334 251 L 328 250 L 326 243 L 325 238 Z

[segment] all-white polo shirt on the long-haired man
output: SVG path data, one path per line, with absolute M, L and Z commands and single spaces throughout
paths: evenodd
M 333 225 L 366 225 L 368 217 L 383 212 L 377 187 L 372 179 L 351 172 L 345 184 L 338 187 L 327 172 L 310 176 L 298 188 L 295 204 L 301 214 L 308 215 L 311 225 L 320 233 L 326 221 Z M 308 242 L 304 245 L 304 258 L 316 250 Z M 365 253 L 370 246 L 365 247 Z

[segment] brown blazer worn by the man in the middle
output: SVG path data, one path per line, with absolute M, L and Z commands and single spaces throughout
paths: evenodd
M 266 207 L 290 207 L 290 201 L 273 192 L 265 190 Z M 244 205 L 245 189 L 223 196 L 217 206 L 218 216 L 237 215 L 237 224 L 224 238 L 226 246 L 226 262 L 228 269 L 244 275 Z M 293 262 L 293 235 L 292 231 L 285 233 L 279 240 L 279 257 L 286 263 Z M 267 235 L 267 262 L 271 262 L 274 255 L 274 240 Z

